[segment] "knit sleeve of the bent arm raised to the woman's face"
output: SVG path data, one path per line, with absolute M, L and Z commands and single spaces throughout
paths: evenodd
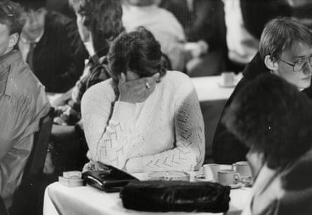
M 131 133 L 135 105 L 114 102 L 114 91 L 109 87 L 111 86 L 100 83 L 83 95 L 83 127 L 90 160 L 109 163 L 122 169 L 128 157 L 127 137 Z

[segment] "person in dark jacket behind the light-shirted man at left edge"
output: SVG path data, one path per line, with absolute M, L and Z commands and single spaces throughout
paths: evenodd
M 88 56 L 74 22 L 46 9 L 46 0 L 15 0 L 27 18 L 18 47 L 47 92 L 66 92 L 83 72 Z

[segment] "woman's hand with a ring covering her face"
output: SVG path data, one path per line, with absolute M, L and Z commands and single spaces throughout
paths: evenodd
M 126 81 L 126 75 L 121 73 L 119 78 L 119 101 L 137 103 L 144 102 L 149 95 L 155 90 L 156 81 L 160 74 L 156 73 L 151 77 L 138 78 L 131 81 Z

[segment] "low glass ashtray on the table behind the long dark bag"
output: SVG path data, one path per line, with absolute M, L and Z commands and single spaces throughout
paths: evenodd
M 149 180 L 156 181 L 189 181 L 190 175 L 187 172 L 182 171 L 163 171 L 163 172 L 151 172 L 149 174 Z

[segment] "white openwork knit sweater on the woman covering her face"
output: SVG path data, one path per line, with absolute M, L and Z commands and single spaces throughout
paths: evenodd
M 199 169 L 205 155 L 203 116 L 191 79 L 168 71 L 142 103 L 116 101 L 112 80 L 81 102 L 90 162 L 127 172 Z

